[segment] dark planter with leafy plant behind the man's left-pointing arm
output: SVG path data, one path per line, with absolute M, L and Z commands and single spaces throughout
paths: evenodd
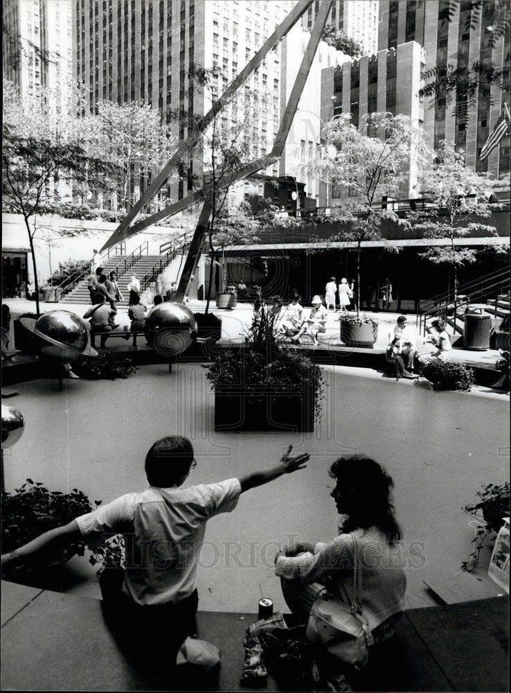
M 96 507 L 100 502 L 95 501 Z M 87 495 L 78 489 L 71 493 L 48 491 L 41 482 L 27 479 L 20 489 L 15 489 L 15 493 L 2 492 L 2 552 L 13 551 L 39 534 L 67 525 L 92 509 Z M 19 584 L 58 591 L 62 565 L 75 554 L 83 556 L 84 549 L 83 541 L 75 542 L 65 550 L 55 550 L 52 556 L 46 554 L 44 563 L 19 565 L 8 570 L 6 578 Z

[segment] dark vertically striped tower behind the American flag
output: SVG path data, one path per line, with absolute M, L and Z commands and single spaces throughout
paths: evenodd
M 449 6 L 454 13 L 449 16 Z M 480 12 L 474 14 L 470 0 L 449 3 L 447 0 L 380 0 L 378 48 L 392 49 L 409 41 L 424 48 L 424 71 L 432 68 L 445 71 L 445 65 L 470 69 L 475 62 L 492 63 L 496 68 L 509 67 L 510 31 L 492 41 L 494 27 L 501 21 L 503 3 L 485 0 Z M 450 68 L 449 68 L 450 69 Z M 464 96 L 437 94 L 424 103 L 424 130 L 431 144 L 438 148 L 440 141 L 455 142 L 465 150 L 469 168 L 505 177 L 510 172 L 510 135 L 507 134 L 487 157 L 479 158 L 488 135 L 503 112 L 509 107 L 509 74 L 499 85 L 479 88 L 476 103 L 467 105 L 468 119 L 456 116 L 456 105 Z M 458 102 L 456 101 L 458 99 Z M 463 111 L 463 108 L 461 109 Z

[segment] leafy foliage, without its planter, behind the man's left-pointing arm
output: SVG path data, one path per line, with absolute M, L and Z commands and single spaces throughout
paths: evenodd
M 101 501 L 94 503 L 98 507 Z M 15 493 L 2 492 L 2 552 L 13 551 L 39 534 L 67 525 L 91 511 L 91 502 L 83 491 L 48 491 L 42 482 L 27 479 Z M 75 542 L 66 550 L 58 550 L 49 563 L 65 561 L 74 554 L 83 556 L 84 547 L 83 541 Z

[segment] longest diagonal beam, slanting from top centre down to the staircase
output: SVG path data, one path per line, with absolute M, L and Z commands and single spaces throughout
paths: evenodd
M 262 61 L 266 58 L 267 54 L 275 48 L 280 39 L 287 35 L 289 29 L 291 29 L 296 24 L 298 19 L 300 19 L 305 14 L 305 12 L 307 12 L 310 6 L 312 6 L 313 1 L 314 0 L 300 0 L 300 2 L 298 2 L 298 4 L 293 8 L 293 10 L 289 12 L 289 15 L 287 15 L 287 17 L 285 17 L 285 19 L 279 24 L 274 33 L 271 34 L 271 36 L 261 46 L 258 52 L 255 53 L 253 58 L 250 60 L 248 64 L 246 64 L 244 69 L 235 78 L 235 80 L 233 80 L 233 82 L 231 82 L 231 84 L 228 85 L 227 89 L 224 91 L 222 96 L 217 101 L 215 108 L 211 108 L 208 111 L 204 118 L 201 119 L 201 121 L 199 121 L 197 127 L 194 128 L 192 134 L 190 134 L 188 138 L 185 141 L 183 141 L 181 145 L 179 145 L 176 152 L 174 152 L 172 157 L 170 157 L 170 159 L 167 161 L 159 175 L 157 175 L 152 180 L 150 185 L 147 186 L 147 189 L 141 196 L 140 200 L 138 200 L 138 202 L 134 204 L 132 209 L 130 209 L 127 212 L 125 218 L 120 222 L 116 231 L 114 231 L 114 234 L 110 236 L 110 238 L 107 240 L 107 243 L 105 243 L 105 245 L 103 245 L 103 247 L 101 248 L 101 252 L 103 250 L 107 250 L 112 245 L 116 245 L 116 243 L 118 243 L 120 240 L 125 240 L 126 238 L 129 238 L 130 236 L 133 236 L 136 233 L 136 231 L 132 231 L 131 228 L 128 228 L 131 222 L 134 220 L 134 218 L 138 215 L 138 213 L 140 213 L 145 204 L 147 204 L 147 202 L 150 202 L 152 198 L 154 198 L 154 195 L 156 195 L 161 186 L 168 179 L 170 173 L 172 173 L 172 170 L 182 159 L 182 157 L 185 156 L 186 153 L 190 151 L 191 148 L 193 148 L 193 146 L 195 146 L 197 140 L 201 136 L 201 132 L 206 130 L 208 125 L 213 121 L 215 113 L 217 114 L 226 105 L 226 103 L 228 103 L 231 96 L 235 94 L 237 89 L 239 89 L 242 86 L 242 84 L 246 81 L 246 79 L 249 78 L 249 76 L 255 70 L 255 68 L 262 63 Z M 330 5 L 330 1 L 326 4 Z

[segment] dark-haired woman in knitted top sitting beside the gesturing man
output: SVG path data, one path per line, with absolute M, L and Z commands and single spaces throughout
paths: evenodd
M 328 591 L 350 606 L 353 588 L 353 536 L 363 566 L 362 613 L 375 644 L 391 638 L 404 608 L 406 578 L 397 544 L 400 527 L 391 501 L 393 480 L 373 459 L 340 457 L 330 467 L 336 486 L 330 495 L 345 516 L 341 534 L 332 541 L 299 543 L 276 555 L 287 606 L 306 623 L 314 599 Z

